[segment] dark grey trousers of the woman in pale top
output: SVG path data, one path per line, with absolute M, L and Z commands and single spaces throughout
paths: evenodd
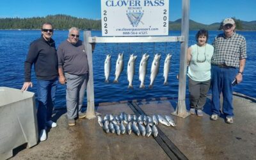
M 193 81 L 189 78 L 189 100 L 190 107 L 195 109 L 204 109 L 207 93 L 211 85 L 211 79 L 208 81 Z

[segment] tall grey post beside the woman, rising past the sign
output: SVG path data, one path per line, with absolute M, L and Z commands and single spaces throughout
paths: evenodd
M 181 35 L 184 36 L 184 42 L 180 45 L 180 71 L 179 71 L 179 97 L 178 104 L 173 115 L 185 118 L 189 116 L 186 109 L 186 72 L 187 72 L 187 52 L 189 37 L 189 0 L 182 0 L 182 22 Z

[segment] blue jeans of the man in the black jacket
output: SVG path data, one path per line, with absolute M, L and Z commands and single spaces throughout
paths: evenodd
M 45 122 L 51 120 L 57 84 L 58 78 L 49 81 L 37 79 L 37 122 L 39 131 L 45 129 Z

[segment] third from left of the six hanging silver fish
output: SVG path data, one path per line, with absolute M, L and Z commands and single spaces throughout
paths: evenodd
M 135 73 L 135 60 L 136 60 L 137 56 L 133 56 L 133 54 L 131 54 L 130 59 L 128 61 L 128 66 L 127 66 L 127 79 L 129 81 L 129 86 L 128 88 L 133 88 L 132 86 L 132 80 L 133 80 L 133 76 Z

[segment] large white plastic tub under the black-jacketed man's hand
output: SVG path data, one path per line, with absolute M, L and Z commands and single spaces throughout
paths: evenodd
M 0 87 L 0 159 L 13 156 L 13 148 L 36 145 L 38 129 L 35 94 Z

